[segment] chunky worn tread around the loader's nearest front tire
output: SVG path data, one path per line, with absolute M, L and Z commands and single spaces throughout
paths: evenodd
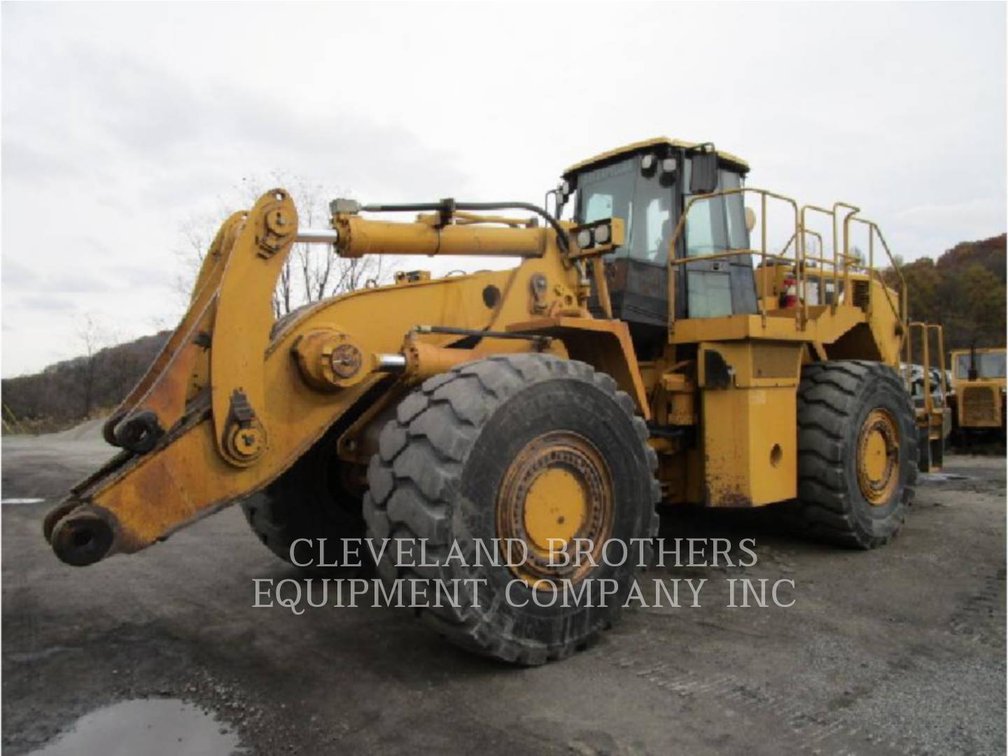
M 369 486 L 375 494 L 369 491 L 364 497 L 368 535 L 403 539 L 433 535 L 426 544 L 428 554 L 438 547 L 447 550 L 455 481 L 481 424 L 507 397 L 526 385 L 550 378 L 590 382 L 629 415 L 652 475 L 649 535 L 657 535 L 654 507 L 661 494 L 653 479 L 657 456 L 646 444 L 647 426 L 634 414 L 633 400 L 617 388 L 610 376 L 586 363 L 541 354 L 501 355 L 466 363 L 427 379 L 407 397 L 406 411 L 397 412 L 381 432 L 382 439 L 404 437 L 404 445 L 399 448 L 380 442 L 381 451 L 369 466 Z M 430 484 L 432 479 L 437 485 Z M 393 581 L 411 574 L 413 571 L 395 565 L 390 550 L 378 565 L 382 579 Z M 565 639 L 552 645 L 529 641 L 508 632 L 506 627 L 491 627 L 485 615 L 472 609 L 460 612 L 446 606 L 416 611 L 421 620 L 456 645 L 518 664 L 565 658 L 588 645 L 584 639 Z M 611 621 L 599 624 L 610 625 Z M 603 629 L 595 628 L 592 635 Z

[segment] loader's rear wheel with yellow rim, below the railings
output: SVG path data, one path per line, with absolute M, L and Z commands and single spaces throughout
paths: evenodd
M 797 415 L 797 511 L 805 529 L 856 548 L 895 536 L 913 499 L 918 457 L 913 405 L 896 373 L 857 360 L 809 365 Z M 881 473 L 872 472 L 873 454 Z

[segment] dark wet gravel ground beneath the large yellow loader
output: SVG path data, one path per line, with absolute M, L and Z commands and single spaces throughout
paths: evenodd
M 519 669 L 405 610 L 253 609 L 254 578 L 296 573 L 237 508 L 62 564 L 41 517 L 108 456 L 94 437 L 3 439 L 3 496 L 47 500 L 0 510 L 5 754 L 138 699 L 209 712 L 251 754 L 1005 752 L 1004 459 L 950 457 L 966 478 L 923 482 L 870 552 L 798 540 L 772 510 L 668 514 L 663 537 L 753 537 L 757 564 L 652 570 L 707 578 L 703 607 L 631 609 L 587 651 Z M 795 603 L 728 608 L 733 577 L 792 580 Z

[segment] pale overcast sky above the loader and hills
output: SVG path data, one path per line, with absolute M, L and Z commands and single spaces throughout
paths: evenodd
M 538 203 L 571 163 L 667 135 L 746 157 L 750 185 L 858 203 L 908 260 L 1006 228 L 1001 3 L 4 3 L 0 22 L 4 376 L 80 354 L 89 316 L 173 326 L 184 225 L 273 171 Z

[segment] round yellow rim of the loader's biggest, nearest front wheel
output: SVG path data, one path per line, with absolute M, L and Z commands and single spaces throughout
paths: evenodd
M 613 487 L 609 467 L 595 446 L 578 433 L 553 430 L 533 438 L 515 456 L 497 496 L 497 535 L 501 551 L 517 561 L 525 543 L 527 558 L 511 566 L 533 588 L 543 580 L 580 581 L 598 563 L 612 532 Z M 575 539 L 582 541 L 580 563 Z M 552 540 L 550 540 L 552 539 Z M 550 558 L 552 546 L 552 558 Z M 570 563 L 565 563 L 570 562 Z

